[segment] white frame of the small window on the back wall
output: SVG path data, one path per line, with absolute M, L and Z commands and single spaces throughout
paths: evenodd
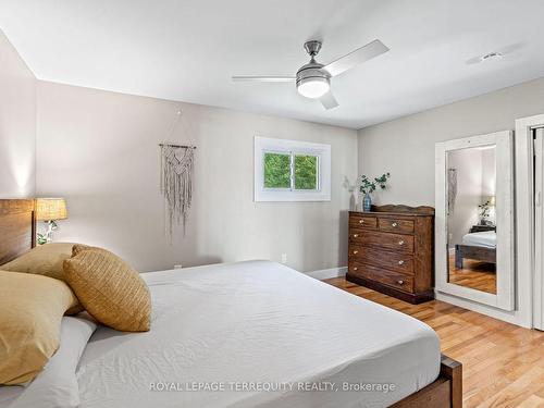
M 318 189 L 264 188 L 264 153 L 290 156 L 290 185 L 294 186 L 294 157 L 318 157 Z M 331 145 L 300 140 L 255 137 L 255 201 L 331 201 Z

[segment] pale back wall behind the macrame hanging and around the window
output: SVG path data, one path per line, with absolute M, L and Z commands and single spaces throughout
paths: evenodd
M 111 248 L 138 270 L 244 259 L 312 271 L 347 264 L 349 194 L 357 132 L 275 116 L 38 82 L 40 196 L 67 200 L 55 239 Z M 164 235 L 158 143 L 178 107 L 172 141 L 197 145 L 185 238 Z M 330 202 L 254 202 L 254 136 L 332 146 Z

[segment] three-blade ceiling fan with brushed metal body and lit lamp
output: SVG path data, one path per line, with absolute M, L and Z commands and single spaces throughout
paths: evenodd
M 378 39 L 351 51 L 347 55 L 323 65 L 316 61 L 321 50 L 321 41 L 311 40 L 305 42 L 305 50 L 310 54 L 310 62 L 302 65 L 296 76 L 233 76 L 234 82 L 265 82 L 265 83 L 296 83 L 300 95 L 319 99 L 325 109 L 338 106 L 331 91 L 331 78 L 351 70 L 372 58 L 387 52 L 390 49 Z

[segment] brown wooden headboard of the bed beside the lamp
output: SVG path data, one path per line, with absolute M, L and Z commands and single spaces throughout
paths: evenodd
M 33 199 L 0 199 L 0 265 L 36 246 Z

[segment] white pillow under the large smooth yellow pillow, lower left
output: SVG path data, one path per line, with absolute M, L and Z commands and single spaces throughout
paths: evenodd
M 75 371 L 96 327 L 96 323 L 90 318 L 86 319 L 82 314 L 78 318 L 63 317 L 59 349 L 32 383 L 24 388 L 20 387 L 23 390 L 21 395 L 8 407 L 77 407 L 79 405 L 79 387 Z

